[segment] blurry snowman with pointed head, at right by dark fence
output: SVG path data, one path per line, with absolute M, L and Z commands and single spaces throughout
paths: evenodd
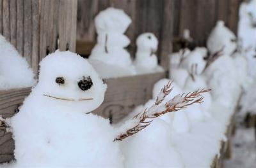
M 241 59 L 244 58 L 242 55 L 236 55 L 236 36 L 225 27 L 223 21 L 218 21 L 207 39 L 207 48 L 211 55 L 221 52 L 204 71 L 207 84 L 212 88 L 212 98 L 225 106 L 231 106 L 244 83 L 244 80 L 237 79 L 243 76 L 237 76 L 240 74 L 237 69 L 241 67 L 239 64 L 243 63 Z

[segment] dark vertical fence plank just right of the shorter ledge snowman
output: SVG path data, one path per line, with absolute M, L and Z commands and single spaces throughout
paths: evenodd
M 163 20 L 161 20 L 161 34 L 159 37 L 159 60 L 162 67 L 165 70 L 169 69 L 168 55 L 172 53 L 172 41 L 173 41 L 173 13 L 175 1 L 164 0 L 163 1 Z

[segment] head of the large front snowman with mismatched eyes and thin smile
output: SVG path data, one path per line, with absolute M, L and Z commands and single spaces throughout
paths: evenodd
M 38 85 L 33 91 L 47 103 L 79 106 L 90 112 L 102 103 L 106 88 L 86 59 L 56 51 L 40 62 Z

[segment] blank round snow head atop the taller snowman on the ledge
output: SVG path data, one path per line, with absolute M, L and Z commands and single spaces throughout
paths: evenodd
M 120 32 L 123 34 L 131 24 L 131 18 L 123 10 L 107 8 L 95 17 L 95 27 L 98 34 L 102 32 Z

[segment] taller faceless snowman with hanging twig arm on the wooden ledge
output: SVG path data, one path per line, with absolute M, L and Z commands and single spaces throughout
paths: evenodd
M 89 61 L 102 78 L 135 74 L 131 56 L 124 49 L 130 43 L 124 34 L 129 24 L 131 18 L 123 10 L 115 8 L 100 11 L 95 17 L 97 44 Z

